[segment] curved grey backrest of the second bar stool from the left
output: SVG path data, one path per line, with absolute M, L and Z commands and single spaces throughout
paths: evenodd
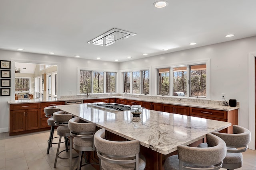
M 72 119 L 72 114 L 66 113 L 65 111 L 56 111 L 53 113 L 52 118 L 54 119 L 55 125 L 67 125 L 69 119 Z

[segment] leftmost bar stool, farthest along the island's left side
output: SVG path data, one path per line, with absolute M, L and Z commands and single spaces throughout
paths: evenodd
M 60 109 L 54 106 L 44 107 L 45 117 L 50 117 L 49 119 L 47 119 L 47 124 L 48 126 L 51 126 L 46 154 L 49 154 L 50 147 L 52 147 L 52 144 L 56 144 L 56 143 L 52 143 L 54 128 L 55 128 L 55 123 L 54 123 L 54 119 L 52 118 L 52 114 L 56 111 L 60 111 Z

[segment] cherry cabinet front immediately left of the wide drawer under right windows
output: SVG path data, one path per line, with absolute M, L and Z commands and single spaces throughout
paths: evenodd
M 172 104 L 163 104 L 162 111 L 168 113 L 176 113 L 180 115 L 189 115 L 189 107 L 187 106 L 177 106 Z

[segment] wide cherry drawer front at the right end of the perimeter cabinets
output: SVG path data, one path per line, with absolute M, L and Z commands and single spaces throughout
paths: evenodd
M 190 116 L 199 115 L 201 117 L 215 117 L 220 119 L 227 119 L 227 111 L 222 110 L 213 110 L 213 109 L 203 109 L 203 108 L 196 108 L 190 107 Z

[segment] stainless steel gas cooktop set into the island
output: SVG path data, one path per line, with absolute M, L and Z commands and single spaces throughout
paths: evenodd
M 89 107 L 95 107 L 97 109 L 108 110 L 112 112 L 130 110 L 131 106 L 115 104 L 115 103 L 104 103 L 104 104 L 87 104 Z

